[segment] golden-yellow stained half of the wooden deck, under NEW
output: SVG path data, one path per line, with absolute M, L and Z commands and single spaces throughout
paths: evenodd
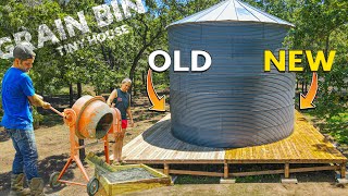
M 296 112 L 294 133 L 268 145 L 228 149 L 229 163 L 343 163 L 343 156 L 325 137 Z

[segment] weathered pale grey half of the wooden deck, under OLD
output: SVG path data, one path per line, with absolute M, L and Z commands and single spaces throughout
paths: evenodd
M 223 163 L 225 150 L 175 138 L 169 114 L 125 145 L 122 156 L 129 163 Z

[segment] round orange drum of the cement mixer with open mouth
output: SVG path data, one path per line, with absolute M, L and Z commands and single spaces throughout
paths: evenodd
M 75 134 L 78 138 L 102 138 L 113 121 L 112 110 L 101 96 L 83 96 L 72 108 L 76 112 Z

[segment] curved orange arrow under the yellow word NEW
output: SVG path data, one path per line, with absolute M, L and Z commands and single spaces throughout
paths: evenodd
M 300 93 L 300 109 L 310 109 L 310 108 L 315 108 L 315 106 L 312 103 L 314 100 L 314 97 L 316 95 L 318 90 L 318 74 L 313 72 L 312 76 L 312 83 L 311 87 L 309 88 L 309 91 L 307 93 L 306 97 L 303 94 Z

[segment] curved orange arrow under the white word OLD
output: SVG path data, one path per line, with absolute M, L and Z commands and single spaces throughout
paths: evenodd
M 148 71 L 148 77 L 146 83 L 146 90 L 148 91 L 148 97 L 152 103 L 152 107 L 149 108 L 149 110 L 153 111 L 165 111 L 165 96 L 162 96 L 159 98 L 157 95 L 153 84 L 152 84 L 152 71 L 149 69 Z

